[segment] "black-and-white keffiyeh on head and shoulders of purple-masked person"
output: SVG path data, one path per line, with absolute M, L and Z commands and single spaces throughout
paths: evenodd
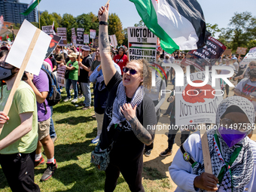
M 216 115 L 216 122 L 217 124 L 220 123 L 220 118 L 222 114 L 227 110 L 228 107 L 231 105 L 236 105 L 245 112 L 248 117 L 248 120 L 251 123 L 254 123 L 254 107 L 248 99 L 245 99 L 240 96 L 232 96 L 224 99 L 223 102 L 218 106 L 217 115 Z M 224 178 L 220 183 L 220 187 L 218 187 L 218 192 L 242 192 L 246 184 L 249 183 L 251 180 L 251 175 L 253 172 L 253 159 L 252 159 L 252 150 L 249 143 L 248 137 L 242 139 L 242 141 L 238 142 L 233 147 L 229 148 L 216 130 L 210 130 L 207 133 L 207 138 L 209 142 L 209 151 L 212 161 L 212 172 L 213 175 L 218 177 L 219 173 L 221 172 L 221 168 L 224 166 L 223 161 L 221 161 L 220 157 L 218 156 L 218 152 L 215 149 L 214 144 L 214 135 L 217 133 L 219 145 L 221 148 L 222 157 L 224 158 L 225 162 L 230 161 L 231 154 L 242 146 L 241 151 L 239 151 L 236 160 L 230 166 L 230 171 L 225 170 Z M 193 167 L 193 173 L 196 175 L 201 175 L 204 172 L 204 164 L 197 163 L 196 166 Z M 231 172 L 231 175 L 230 175 Z M 200 190 L 205 191 L 205 190 Z

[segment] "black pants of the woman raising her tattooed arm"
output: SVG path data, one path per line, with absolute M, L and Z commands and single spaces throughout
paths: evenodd
M 125 163 L 126 162 L 126 163 Z M 141 154 L 136 159 L 127 162 L 125 158 L 123 161 L 111 161 L 108 168 L 105 170 L 105 192 L 112 192 L 117 186 L 117 178 L 120 172 L 127 182 L 132 192 L 144 192 L 142 186 L 142 169 L 143 169 L 143 155 Z

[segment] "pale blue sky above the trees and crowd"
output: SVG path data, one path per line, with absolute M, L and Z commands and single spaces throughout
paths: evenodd
M 256 16 L 256 1 L 255 0 L 197 0 L 203 8 L 206 23 L 217 23 L 219 28 L 227 28 L 235 12 L 242 13 L 249 11 L 253 16 Z M 20 0 L 20 2 L 29 3 L 31 0 Z M 41 0 L 39 5 L 40 11 L 47 10 L 49 13 L 56 12 L 57 14 L 72 14 L 78 16 L 93 12 L 98 14 L 99 7 L 105 5 L 107 0 Z M 123 28 L 134 26 L 139 23 L 141 18 L 136 11 L 135 5 L 129 0 L 111 0 L 110 12 L 115 13 L 120 17 L 123 23 Z

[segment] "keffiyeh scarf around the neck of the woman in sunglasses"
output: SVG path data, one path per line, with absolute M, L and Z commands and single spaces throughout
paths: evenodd
M 134 108 L 135 105 L 139 105 L 144 97 L 144 88 L 143 86 L 139 86 L 136 90 L 136 93 L 133 95 L 132 101 L 130 104 Z M 108 125 L 107 130 L 109 131 L 110 127 L 113 124 L 120 123 L 126 120 L 126 118 L 123 116 L 122 112 L 120 111 L 120 107 L 123 106 L 126 103 L 126 92 L 125 87 L 123 86 L 123 81 L 120 82 L 120 84 L 117 87 L 117 96 L 114 99 L 113 109 L 112 109 L 112 120 Z M 129 124 L 128 120 L 126 122 Z M 126 127 L 127 128 L 127 127 Z M 130 129 L 129 127 L 127 129 Z

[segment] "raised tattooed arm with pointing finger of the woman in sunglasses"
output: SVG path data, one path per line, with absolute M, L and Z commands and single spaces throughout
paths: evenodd
M 108 22 L 108 8 L 102 7 L 99 8 L 99 22 Z M 111 78 L 116 73 L 116 69 L 114 68 L 114 64 L 111 59 L 110 53 L 110 44 L 108 41 L 108 26 L 107 25 L 99 25 L 99 53 L 101 56 L 102 63 L 102 73 L 104 76 L 105 84 L 107 85 Z

